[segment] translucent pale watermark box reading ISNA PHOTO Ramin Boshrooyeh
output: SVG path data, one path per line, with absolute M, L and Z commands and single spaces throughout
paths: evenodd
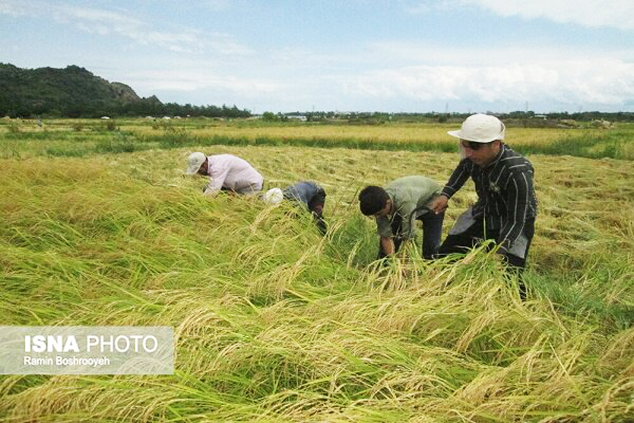
M 168 326 L 0 326 L 1 375 L 168 375 Z

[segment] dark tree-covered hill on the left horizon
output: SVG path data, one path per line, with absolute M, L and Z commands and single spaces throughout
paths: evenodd
M 202 115 L 245 117 L 236 106 L 180 106 L 156 96 L 139 97 L 123 83 L 110 83 L 79 66 L 21 69 L 0 63 L 0 117 L 101 117 Z

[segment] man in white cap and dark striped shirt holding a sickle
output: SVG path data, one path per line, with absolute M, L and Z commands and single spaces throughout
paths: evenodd
M 505 126 L 495 116 L 469 116 L 458 131 L 463 159 L 431 210 L 442 213 L 447 202 L 470 177 L 477 202 L 458 217 L 438 256 L 466 252 L 483 239 L 493 239 L 507 264 L 519 273 L 526 266 L 537 215 L 533 165 L 503 143 Z M 520 281 L 520 295 L 525 296 Z

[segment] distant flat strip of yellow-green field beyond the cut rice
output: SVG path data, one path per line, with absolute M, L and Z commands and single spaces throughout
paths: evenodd
M 48 155 L 82 157 L 108 152 L 194 148 L 212 145 L 274 145 L 354 150 L 454 152 L 447 130 L 458 123 L 380 125 L 268 123 L 192 120 L 52 120 L 0 121 L 0 157 Z M 634 160 L 634 124 L 614 129 L 588 125 L 575 129 L 514 127 L 507 142 L 522 154 L 572 155 Z

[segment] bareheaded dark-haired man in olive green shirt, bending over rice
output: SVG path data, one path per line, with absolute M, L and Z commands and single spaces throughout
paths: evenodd
M 378 259 L 395 254 L 403 242 L 415 237 L 416 220 L 423 222 L 423 257 L 433 258 L 445 214 L 428 213 L 428 206 L 441 190 L 438 182 L 424 176 L 405 176 L 385 188 L 370 185 L 361 190 L 361 213 L 375 217 L 381 236 Z

